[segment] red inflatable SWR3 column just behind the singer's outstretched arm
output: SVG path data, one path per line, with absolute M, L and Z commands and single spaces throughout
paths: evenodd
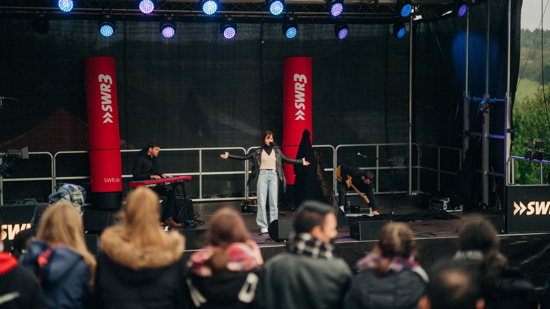
M 294 158 L 304 129 L 311 130 L 311 57 L 283 58 L 283 153 Z M 298 158 L 301 159 L 301 158 Z M 287 184 L 294 184 L 294 167 L 284 164 Z

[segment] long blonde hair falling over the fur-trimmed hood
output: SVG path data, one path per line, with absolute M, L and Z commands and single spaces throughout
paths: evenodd
M 168 237 L 160 227 L 161 207 L 155 191 L 138 187 L 126 197 L 123 207 L 126 236 L 131 244 L 139 248 L 164 246 Z

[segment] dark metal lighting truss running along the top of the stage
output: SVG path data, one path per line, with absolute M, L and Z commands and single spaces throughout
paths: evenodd
M 436 15 L 437 10 L 448 6 L 451 0 L 419 0 L 413 2 L 413 14 L 425 12 Z M 0 6 L 0 18 L 35 18 L 36 14 L 47 14 L 49 19 L 97 20 L 102 13 L 117 19 L 129 21 L 160 21 L 167 16 L 174 21 L 219 22 L 231 18 L 237 23 L 281 23 L 285 17 L 293 17 L 298 23 L 331 24 L 345 20 L 350 24 L 394 23 L 396 4 L 389 0 L 367 0 L 366 2 L 344 2 L 345 8 L 339 18 L 328 13 L 327 2 L 323 0 L 285 2 L 282 16 L 273 16 L 261 0 L 222 0 L 214 15 L 206 15 L 200 9 L 199 1 L 157 1 L 155 10 L 142 14 L 136 1 L 125 0 L 77 0 L 75 8 L 61 12 L 56 0 L 5 0 Z

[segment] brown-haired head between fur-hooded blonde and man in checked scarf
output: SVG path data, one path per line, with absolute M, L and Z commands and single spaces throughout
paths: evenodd
M 250 239 L 243 217 L 230 207 L 218 209 L 210 220 L 206 231 L 206 242 L 217 247 L 227 247 L 232 242 Z

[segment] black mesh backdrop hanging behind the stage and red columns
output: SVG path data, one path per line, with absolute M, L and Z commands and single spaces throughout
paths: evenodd
M 485 93 L 489 5 L 488 92 L 505 96 L 507 2 L 469 9 L 471 96 Z M 521 1 L 512 5 L 514 92 Z M 408 34 L 398 40 L 392 25 L 350 25 L 349 36 L 338 40 L 331 24 L 299 24 L 298 36 L 288 40 L 281 24 L 239 24 L 237 36 L 225 40 L 218 23 L 178 23 L 177 34 L 166 39 L 157 22 L 119 20 L 114 35 L 105 38 L 96 21 L 51 20 L 50 31 L 40 35 L 32 20 L 2 19 L 0 96 L 19 102 L 0 109 L 0 144 L 59 107 L 87 122 L 83 59 L 91 56 L 116 60 L 120 139 L 136 148 L 151 138 L 163 148 L 248 148 L 260 145 L 263 130 L 273 131 L 280 144 L 284 56 L 312 57 L 314 145 L 408 142 L 412 32 L 413 142 L 461 147 L 466 19 L 406 27 Z M 481 126 L 476 110 L 472 126 Z

